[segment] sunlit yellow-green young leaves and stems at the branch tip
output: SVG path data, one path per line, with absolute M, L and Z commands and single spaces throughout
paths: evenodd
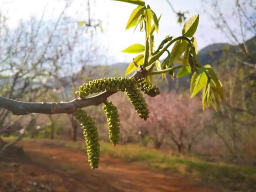
M 182 28 L 182 36 L 166 36 L 158 48 L 154 49 L 154 32 L 159 30 L 159 17 L 149 5 L 145 5 L 142 0 L 126 1 L 137 4 L 138 7 L 132 11 L 126 29 L 140 26 L 140 32 L 145 31 L 145 44 L 132 44 L 122 50 L 125 53 L 139 53 L 126 69 L 125 76 L 134 71 L 144 70 L 148 73 L 146 81 L 152 83 L 152 75 L 162 74 L 163 78 L 167 75 L 174 78 L 181 78 L 192 74 L 190 82 L 190 94 L 193 98 L 200 90 L 202 91 L 202 108 L 206 104 L 214 106 L 217 110 L 220 100 L 223 100 L 224 90 L 222 83 L 210 65 L 202 66 L 198 60 L 197 40 L 194 37 L 199 23 L 199 14 L 192 16 Z M 182 16 L 182 14 L 181 14 Z M 172 49 L 170 49 L 171 45 Z M 167 52 L 166 58 L 160 62 L 160 56 Z M 180 65 L 177 65 L 180 64 Z M 154 71 L 156 68 L 156 71 Z M 178 70 L 176 72 L 176 70 Z

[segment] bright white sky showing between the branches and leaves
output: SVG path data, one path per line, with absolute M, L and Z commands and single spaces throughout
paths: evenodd
M 1 0 L 1 2 L 0 11 L 8 16 L 10 28 L 15 28 L 20 20 L 26 21 L 30 16 L 40 19 L 45 7 L 44 20 L 56 20 L 64 8 L 63 0 Z M 145 2 L 150 5 L 157 16 L 162 14 L 159 33 L 155 36 L 156 45 L 167 35 L 174 37 L 181 35 L 183 24 L 176 22 L 177 17 L 166 0 L 145 0 Z M 200 14 L 198 29 L 194 34 L 199 49 L 212 43 L 227 42 L 224 34 L 216 29 L 209 16 L 209 13 L 212 14 L 210 6 L 206 6 L 207 14 L 203 11 L 201 0 L 170 0 L 170 2 L 176 11 L 189 10 L 189 14 L 186 14 L 187 18 Z M 234 2 L 235 0 L 222 0 L 220 4 L 222 11 L 231 15 Z M 74 0 L 67 14 L 78 21 L 87 20 L 86 4 L 87 0 Z M 138 30 L 133 32 L 133 29 L 125 30 L 126 22 L 136 5 L 113 0 L 90 0 L 90 4 L 91 17 L 102 21 L 103 33 L 98 31 L 94 34 L 94 39 L 102 51 L 106 52 L 108 57 L 106 64 L 130 62 L 136 55 L 122 53 L 121 50 L 135 43 L 144 44 L 144 32 Z M 239 25 L 237 18 L 228 17 L 228 22 L 234 28 Z M 248 34 L 248 38 L 252 35 Z

